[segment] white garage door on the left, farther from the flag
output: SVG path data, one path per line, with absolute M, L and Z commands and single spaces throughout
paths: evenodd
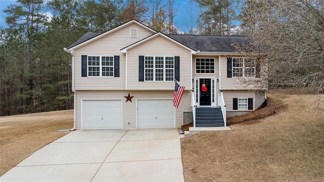
M 121 129 L 121 100 L 83 100 L 82 129 Z

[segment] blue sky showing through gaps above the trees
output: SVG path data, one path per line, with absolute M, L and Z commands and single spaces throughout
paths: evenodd
M 188 13 L 192 12 L 192 14 L 198 17 L 199 9 L 195 6 L 195 3 L 190 3 L 190 0 L 175 0 L 176 6 L 175 9 L 177 10 L 177 16 L 175 17 L 175 25 L 179 27 L 181 31 L 188 32 L 189 27 L 194 26 L 194 24 L 190 23 Z M 16 0 L 0 0 L 0 26 L 3 28 L 8 27 L 6 24 L 6 13 L 4 10 L 11 4 L 15 4 Z M 45 12 L 48 17 L 51 17 L 51 12 Z

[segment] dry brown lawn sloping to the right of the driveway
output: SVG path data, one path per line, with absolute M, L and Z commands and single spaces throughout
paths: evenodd
M 324 96 L 269 97 L 287 110 L 182 138 L 185 181 L 324 181 Z

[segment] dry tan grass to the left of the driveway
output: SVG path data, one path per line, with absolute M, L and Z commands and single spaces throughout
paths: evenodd
M 73 110 L 0 117 L 0 176 L 73 127 Z

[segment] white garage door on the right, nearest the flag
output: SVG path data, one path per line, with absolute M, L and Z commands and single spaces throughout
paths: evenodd
M 172 100 L 137 100 L 137 128 L 174 128 Z

